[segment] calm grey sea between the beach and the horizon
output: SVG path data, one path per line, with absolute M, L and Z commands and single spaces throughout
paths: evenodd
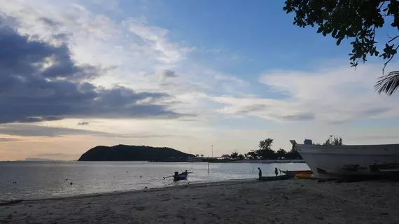
M 0 200 L 60 197 L 89 193 L 162 188 L 177 184 L 255 179 L 278 169 L 309 169 L 304 163 L 177 163 L 177 162 L 0 162 Z M 188 181 L 164 180 L 188 169 Z M 142 177 L 140 177 L 142 176 Z M 13 182 L 17 183 L 14 184 Z M 72 185 L 70 183 L 73 183 Z

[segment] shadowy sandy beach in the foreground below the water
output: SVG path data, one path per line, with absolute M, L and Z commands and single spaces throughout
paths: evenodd
M 399 183 L 230 181 L 0 206 L 0 223 L 399 223 Z

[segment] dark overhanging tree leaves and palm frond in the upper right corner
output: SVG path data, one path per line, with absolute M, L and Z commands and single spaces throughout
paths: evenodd
M 386 65 L 391 61 L 399 48 L 399 1 L 398 0 L 286 0 L 283 7 L 286 13 L 295 13 L 294 25 L 298 27 L 318 27 L 317 32 L 337 40 L 337 45 L 345 38 L 351 39 L 352 51 L 349 53 L 351 66 L 366 62 L 367 57 L 379 56 L 386 59 Z M 377 50 L 375 35 L 385 22 L 396 33 L 388 36 L 389 40 Z M 388 34 L 389 35 L 389 34 Z M 399 72 L 393 71 L 382 76 L 375 85 L 376 90 L 388 95 L 399 87 Z

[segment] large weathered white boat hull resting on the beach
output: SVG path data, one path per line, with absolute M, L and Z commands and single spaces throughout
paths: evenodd
M 291 144 L 318 179 L 399 176 L 399 144 L 318 146 L 309 139 Z

